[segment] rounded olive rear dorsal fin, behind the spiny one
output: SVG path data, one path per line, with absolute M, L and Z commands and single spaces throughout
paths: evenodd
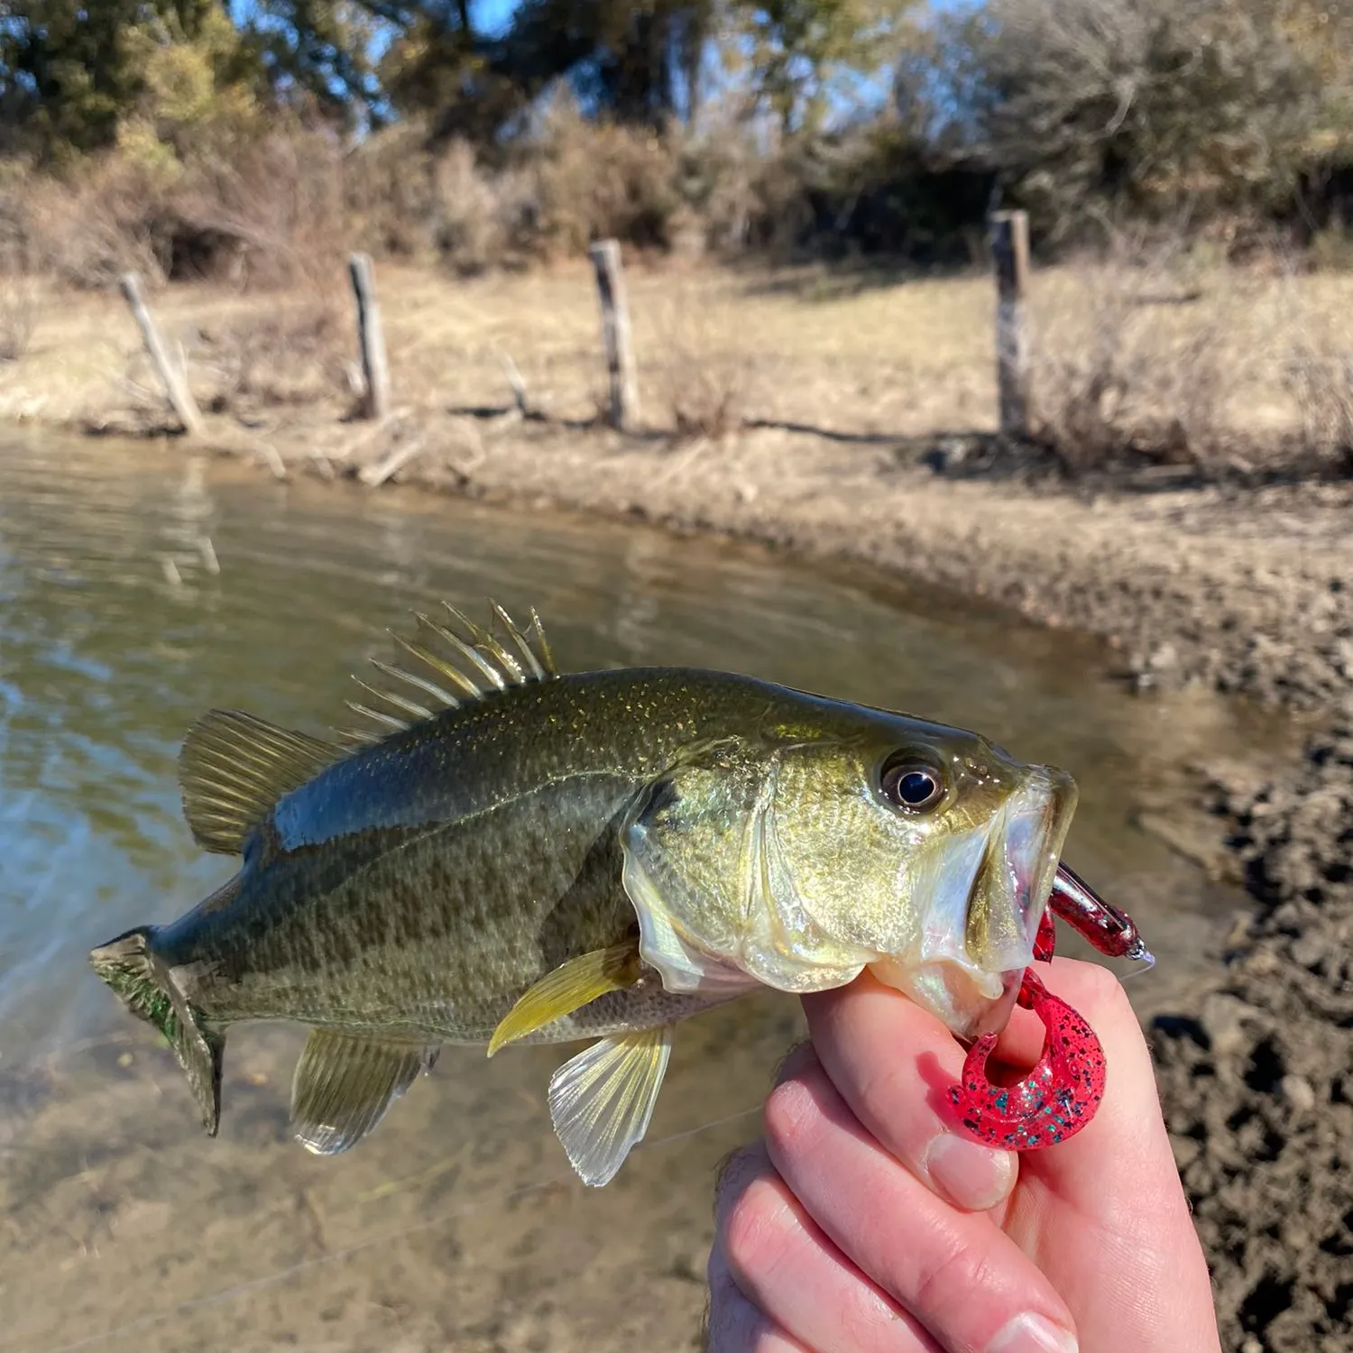
M 193 840 L 238 855 L 283 794 L 299 789 L 346 751 L 235 709 L 203 714 L 183 740 L 179 783 Z

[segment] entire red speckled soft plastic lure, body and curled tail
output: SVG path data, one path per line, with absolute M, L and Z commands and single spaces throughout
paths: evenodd
M 1059 865 L 1047 911 L 1034 942 L 1036 962 L 1051 962 L 1057 946 L 1054 917 L 1059 916 L 1096 950 L 1147 966 L 1154 961 L 1137 925 L 1124 912 L 1088 888 L 1066 865 Z M 997 1085 L 986 1076 L 986 1059 L 997 1035 L 977 1039 L 963 1062 L 963 1076 L 950 1088 L 950 1101 L 963 1127 L 1008 1151 L 1035 1151 L 1074 1137 L 1095 1116 L 1104 1097 L 1104 1049 L 1095 1030 L 1066 1001 L 1043 986 L 1032 967 L 1024 970 L 1019 1004 L 1042 1022 L 1043 1051 L 1038 1063 L 1013 1085 Z

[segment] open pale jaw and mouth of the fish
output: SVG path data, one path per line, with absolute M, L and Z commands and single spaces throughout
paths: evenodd
M 912 873 L 916 943 L 870 963 L 874 977 L 962 1039 L 999 1034 L 1034 961 L 1076 797 L 1065 771 L 1030 767 L 1000 813 Z

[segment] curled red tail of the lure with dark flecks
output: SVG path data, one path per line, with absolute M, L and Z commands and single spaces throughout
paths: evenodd
M 996 1035 L 980 1038 L 963 1062 L 963 1080 L 950 1086 L 950 1103 L 963 1127 L 988 1146 L 1035 1151 L 1074 1137 L 1095 1116 L 1104 1097 L 1104 1049 L 1095 1031 L 1024 970 L 1020 1005 L 1043 1022 L 1043 1054 L 1015 1085 L 993 1085 L 986 1058 Z

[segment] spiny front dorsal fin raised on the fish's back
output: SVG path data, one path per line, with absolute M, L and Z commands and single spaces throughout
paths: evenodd
M 372 659 L 372 666 L 384 679 L 373 683 L 353 678 L 376 708 L 350 700 L 346 705 L 372 720 L 379 732 L 345 729 L 342 736 L 349 741 L 377 743 L 445 709 L 479 700 L 486 691 L 549 681 L 557 675 L 534 607 L 530 624 L 521 629 L 498 602 L 490 601 L 494 620 L 503 630 L 503 637 L 499 637 L 492 629 L 468 620 L 451 602 L 442 602 L 442 606 L 451 624 L 444 625 L 415 612 L 418 628 L 413 639 L 391 632 L 400 655 L 406 660 L 413 659 L 411 663 L 392 666 Z M 388 708 L 382 709 L 380 705 Z

